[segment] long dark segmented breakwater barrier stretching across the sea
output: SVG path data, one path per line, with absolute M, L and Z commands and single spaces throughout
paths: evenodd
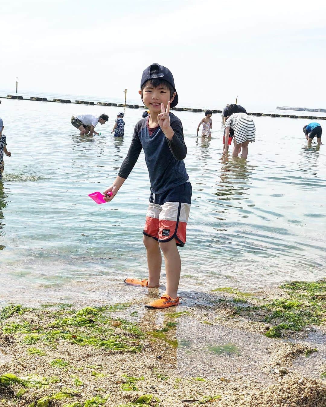
M 95 105 L 95 102 L 90 101 L 70 101 L 69 99 L 58 99 L 53 98 L 52 100 L 48 98 L 36 97 L 31 96 L 28 98 L 23 98 L 22 96 L 18 95 L 7 95 L 7 96 L 0 96 L 0 99 L 15 99 L 15 100 L 24 100 L 24 101 L 39 101 L 39 102 L 53 102 L 53 103 L 71 103 L 71 104 L 78 104 L 78 105 Z M 109 106 L 109 107 L 128 107 L 130 109 L 147 109 L 143 105 L 130 105 L 130 104 L 123 104 L 123 103 L 110 103 L 110 102 L 97 102 L 97 106 Z M 277 107 L 278 109 L 279 107 Z M 283 109 L 283 108 L 282 108 Z M 201 112 L 204 113 L 206 110 L 211 110 L 213 113 L 222 113 L 221 110 L 216 109 L 197 109 L 192 107 L 172 107 L 170 110 L 177 111 L 177 112 Z M 289 110 L 289 109 L 288 109 Z M 323 110 L 320 109 L 322 112 Z M 268 116 L 268 117 L 289 117 L 289 118 L 296 118 L 296 119 L 320 119 L 326 120 L 326 116 L 298 116 L 294 114 L 277 114 L 277 113 L 253 113 L 248 112 L 249 116 Z

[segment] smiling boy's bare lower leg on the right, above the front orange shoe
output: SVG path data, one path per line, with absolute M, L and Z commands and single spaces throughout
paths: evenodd
M 165 260 L 166 290 L 165 294 L 177 298 L 181 272 L 181 259 L 176 246 L 176 239 L 159 243 Z

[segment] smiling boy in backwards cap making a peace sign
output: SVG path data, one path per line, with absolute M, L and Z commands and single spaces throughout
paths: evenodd
M 158 300 L 146 308 L 161 309 L 180 304 L 178 285 L 181 260 L 177 246 L 184 246 L 189 216 L 192 186 L 183 159 L 187 147 L 183 139 L 181 121 L 170 113 L 178 103 L 172 73 L 153 63 L 141 78 L 141 99 L 150 115 L 137 123 L 132 142 L 115 182 L 104 191 L 111 201 L 137 162 L 141 149 L 150 175 L 150 204 L 143 230 L 147 252 L 148 280 L 126 278 L 126 284 L 139 287 L 159 287 L 161 250 L 165 258 L 166 290 Z M 108 192 L 112 191 L 110 197 Z

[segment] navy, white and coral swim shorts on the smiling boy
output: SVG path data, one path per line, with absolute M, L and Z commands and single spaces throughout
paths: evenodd
M 176 239 L 183 247 L 191 205 L 192 186 L 185 182 L 161 194 L 150 194 L 143 234 L 159 242 Z

